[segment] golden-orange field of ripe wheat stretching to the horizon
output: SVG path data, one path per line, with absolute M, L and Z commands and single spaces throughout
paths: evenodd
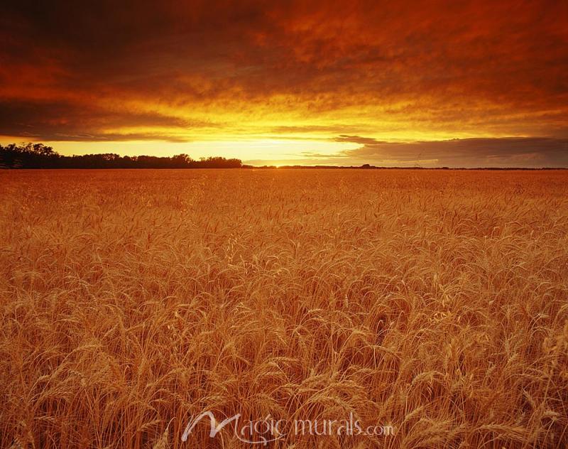
M 1 171 L 0 242 L 2 448 L 568 445 L 566 171 Z

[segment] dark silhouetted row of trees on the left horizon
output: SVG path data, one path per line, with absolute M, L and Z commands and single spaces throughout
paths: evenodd
M 114 153 L 62 156 L 44 144 L 0 145 L 0 168 L 241 168 L 240 159 L 187 156 L 119 156 Z

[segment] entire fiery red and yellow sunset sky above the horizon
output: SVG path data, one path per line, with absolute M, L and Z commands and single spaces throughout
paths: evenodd
M 567 1 L 11 1 L 0 144 L 568 166 Z

